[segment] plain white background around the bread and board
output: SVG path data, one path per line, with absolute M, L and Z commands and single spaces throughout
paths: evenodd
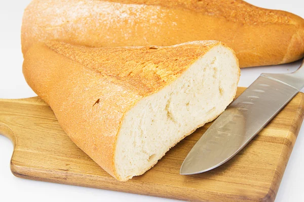
M 0 98 L 35 96 L 22 75 L 20 27 L 29 0 L 0 1 Z M 259 7 L 285 10 L 304 18 L 302 0 L 248 0 Z M 303 39 L 304 40 L 304 39 Z M 300 65 L 242 69 L 239 86 L 250 85 L 262 72 L 292 72 Z M 304 129 L 301 129 L 288 162 L 276 201 L 304 201 Z M 10 171 L 13 146 L 0 135 L 0 201 L 174 201 L 130 193 L 20 179 Z

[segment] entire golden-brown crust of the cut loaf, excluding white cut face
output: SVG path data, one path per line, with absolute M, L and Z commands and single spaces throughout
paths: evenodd
M 35 43 L 24 57 L 23 74 L 71 140 L 122 180 L 115 172 L 113 155 L 124 115 L 216 45 L 224 44 L 88 48 L 56 41 Z

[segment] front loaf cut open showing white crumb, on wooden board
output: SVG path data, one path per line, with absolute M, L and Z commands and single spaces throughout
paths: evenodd
M 28 50 L 23 73 L 71 140 L 125 181 L 222 113 L 240 69 L 218 41 L 109 48 L 52 41 Z

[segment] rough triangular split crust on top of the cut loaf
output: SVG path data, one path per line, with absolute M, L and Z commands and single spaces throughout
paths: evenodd
M 211 47 L 217 43 L 194 41 L 161 48 L 104 47 L 102 51 L 63 42 L 47 42 L 46 45 L 56 53 L 98 72 L 104 79 L 139 96 L 147 96 L 147 93 L 156 92 L 179 77 L 202 55 L 205 51 L 203 45 Z

